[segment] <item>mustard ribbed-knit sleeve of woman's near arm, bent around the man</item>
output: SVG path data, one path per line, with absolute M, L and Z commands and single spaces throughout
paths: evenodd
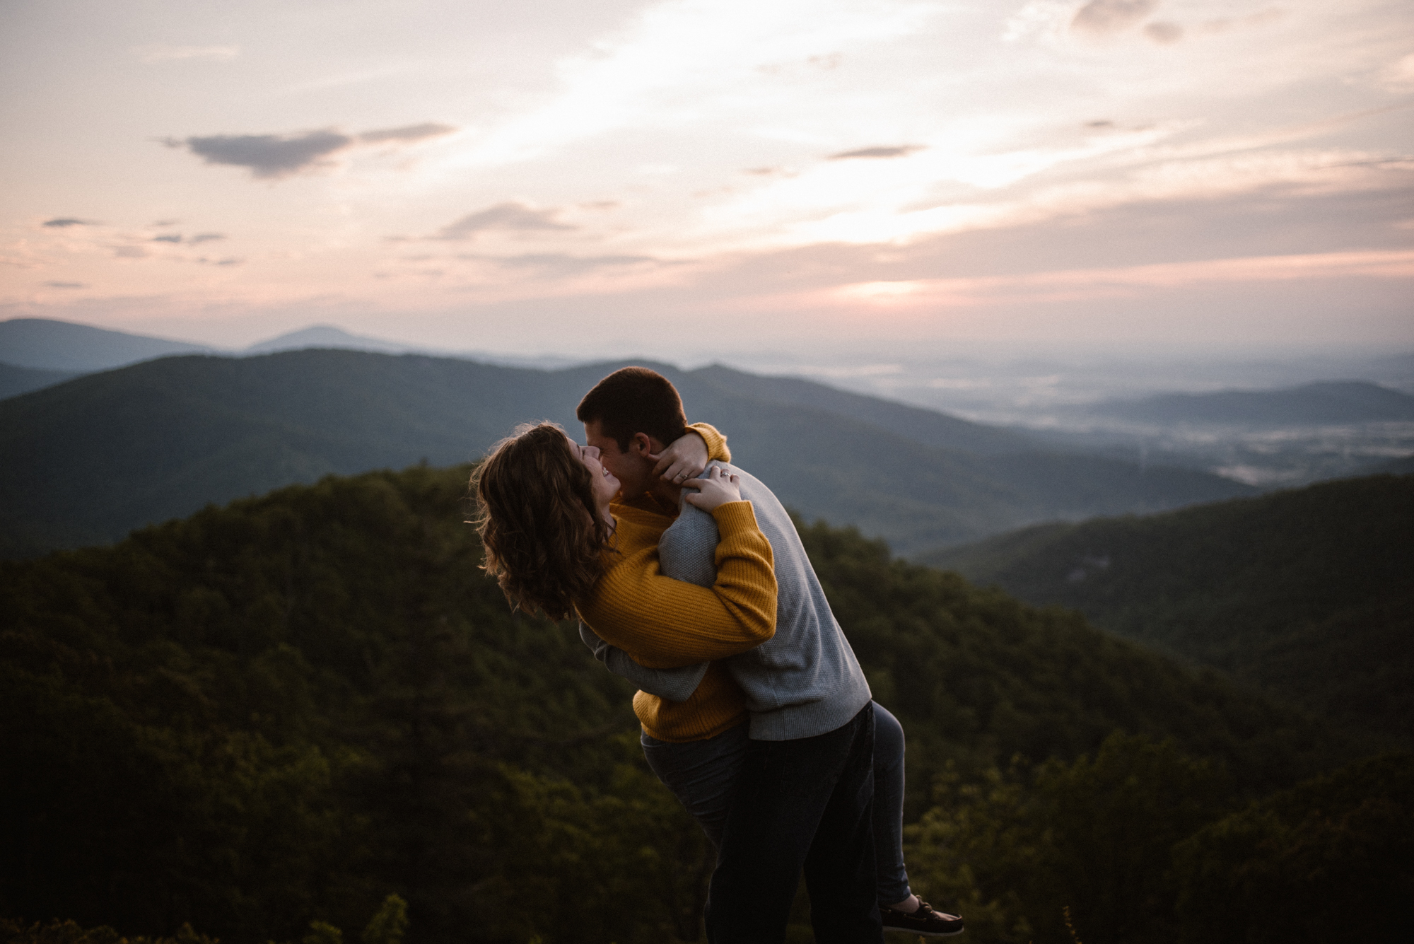
M 621 558 L 578 610 L 611 646 L 649 668 L 677 668 L 755 649 L 775 635 L 776 575 L 771 541 L 749 502 L 720 505 L 717 582 L 663 577 L 656 545 Z

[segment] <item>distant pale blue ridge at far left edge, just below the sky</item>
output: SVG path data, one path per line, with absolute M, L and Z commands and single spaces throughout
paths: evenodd
M 205 345 L 90 328 L 49 318 L 0 321 L 0 360 L 17 367 L 88 373 L 151 358 L 208 350 L 211 348 Z

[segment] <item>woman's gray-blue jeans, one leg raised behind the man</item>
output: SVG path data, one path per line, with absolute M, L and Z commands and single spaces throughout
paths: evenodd
M 646 733 L 641 738 L 648 766 L 717 848 L 751 743 L 747 729 L 747 724 L 740 724 L 715 738 L 686 743 Z M 878 903 L 906 899 L 911 892 L 904 868 L 904 728 L 878 702 L 874 702 L 874 859 Z

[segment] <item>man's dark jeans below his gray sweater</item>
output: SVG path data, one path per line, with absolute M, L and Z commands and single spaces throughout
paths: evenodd
M 872 705 L 814 738 L 749 741 L 707 896 L 707 940 L 783 941 L 803 868 L 816 941 L 882 941 L 872 798 Z

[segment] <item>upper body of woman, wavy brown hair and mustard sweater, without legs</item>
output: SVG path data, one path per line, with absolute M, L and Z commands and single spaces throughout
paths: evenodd
M 721 529 L 713 586 L 663 577 L 658 538 L 670 517 L 609 502 L 619 483 L 598 461 L 550 423 L 520 427 L 478 468 L 484 568 L 512 606 L 566 619 L 594 603 L 632 615 L 652 647 L 641 656 L 662 667 L 720 660 L 759 646 L 775 632 L 776 577 L 771 543 L 749 502 L 721 472 L 699 479 L 691 502 Z M 592 623 L 591 623 L 592 625 Z M 713 738 L 747 719 L 745 698 L 714 663 L 683 702 L 639 694 L 645 731 L 672 741 Z

